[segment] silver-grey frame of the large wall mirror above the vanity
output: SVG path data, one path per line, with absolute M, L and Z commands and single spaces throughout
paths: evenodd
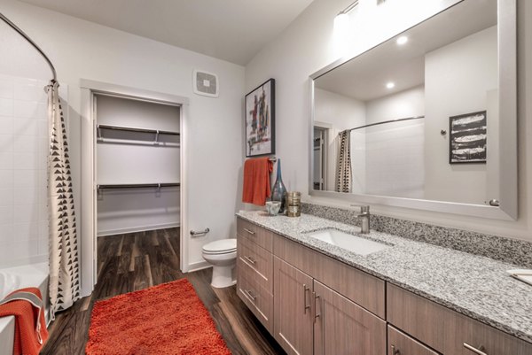
M 449 10 L 456 4 L 435 13 L 428 19 Z M 425 22 L 425 19 L 419 23 Z M 418 26 L 419 23 L 415 26 Z M 414 26 L 414 27 L 415 27 Z M 407 32 L 405 29 L 402 33 Z M 386 41 L 395 38 L 396 34 Z M 377 195 L 357 195 L 335 191 L 322 191 L 313 189 L 313 135 L 314 135 L 314 81 L 341 66 L 349 60 L 363 55 L 372 48 L 350 58 L 340 58 L 329 66 L 310 75 L 310 128 L 309 128 L 309 195 L 313 197 L 329 197 L 346 202 L 364 203 L 368 205 L 386 205 L 394 207 L 411 208 L 432 212 L 453 213 L 474 217 L 483 217 L 496 220 L 517 220 L 518 217 L 518 156 L 517 156 L 517 4 L 516 0 L 497 0 L 497 42 L 498 42 L 498 96 L 499 117 L 505 118 L 505 125 L 500 126 L 499 132 L 499 205 L 473 205 L 447 201 L 424 200 L 405 197 L 387 197 Z M 506 120 L 508 120 L 506 122 Z

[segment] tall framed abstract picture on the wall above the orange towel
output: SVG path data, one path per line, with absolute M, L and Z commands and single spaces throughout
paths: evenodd
M 275 79 L 246 95 L 246 158 L 275 154 Z

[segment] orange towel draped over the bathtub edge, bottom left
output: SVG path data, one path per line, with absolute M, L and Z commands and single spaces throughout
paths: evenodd
M 44 321 L 44 307 L 37 305 L 42 303 L 42 299 L 39 289 L 29 287 L 12 292 L 2 301 L 5 303 L 0 305 L 0 317 L 15 317 L 13 355 L 38 355 L 43 348 L 48 330 Z

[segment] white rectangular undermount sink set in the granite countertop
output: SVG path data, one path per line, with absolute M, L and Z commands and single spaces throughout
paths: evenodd
M 316 232 L 310 232 L 308 235 L 359 255 L 368 255 L 390 247 L 385 243 L 374 242 L 333 228 L 317 230 Z

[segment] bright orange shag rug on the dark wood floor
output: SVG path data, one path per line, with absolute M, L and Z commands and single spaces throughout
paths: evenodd
M 99 301 L 88 355 L 229 355 L 207 308 L 186 279 Z

